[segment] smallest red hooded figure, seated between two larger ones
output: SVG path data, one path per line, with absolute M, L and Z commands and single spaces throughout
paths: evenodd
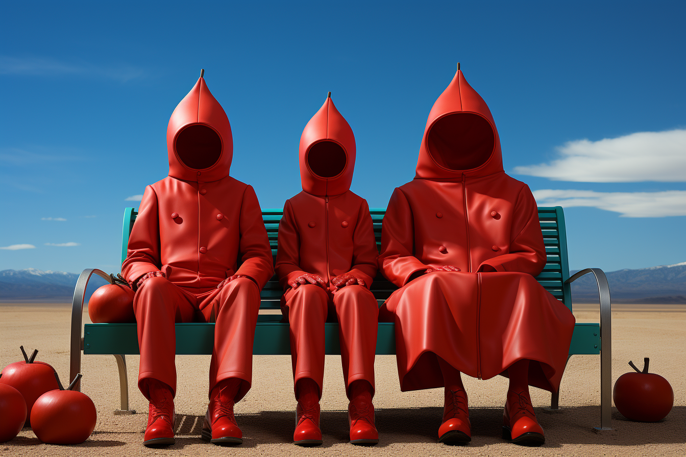
M 327 320 L 340 328 L 351 442 L 379 441 L 371 404 L 379 306 L 369 291 L 378 251 L 367 202 L 349 190 L 354 169 L 355 136 L 329 92 L 300 136 L 303 192 L 285 203 L 276 255 L 298 399 L 294 441 L 300 445 L 322 443 Z

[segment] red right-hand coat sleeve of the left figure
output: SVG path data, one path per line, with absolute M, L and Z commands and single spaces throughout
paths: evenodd
M 262 210 L 252 186 L 247 186 L 243 193 L 239 230 L 239 256 L 242 263 L 236 274 L 251 277 L 261 289 L 274 275 L 274 261 L 262 221 Z

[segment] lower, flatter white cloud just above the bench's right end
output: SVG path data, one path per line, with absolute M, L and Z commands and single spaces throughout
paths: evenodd
M 539 206 L 591 206 L 622 213 L 622 217 L 686 216 L 686 190 L 663 192 L 595 192 L 594 190 L 534 190 Z

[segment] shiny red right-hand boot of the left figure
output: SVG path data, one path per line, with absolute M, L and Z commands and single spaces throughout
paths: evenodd
M 217 445 L 243 443 L 243 432 L 233 415 L 233 399 L 240 382 L 234 384 L 224 384 L 213 389 L 205 420 L 202 422 L 200 436 L 204 441 Z

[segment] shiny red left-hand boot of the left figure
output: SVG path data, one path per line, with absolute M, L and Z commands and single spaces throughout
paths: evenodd
M 150 382 L 148 396 L 150 407 L 147 412 L 147 427 L 143 436 L 143 445 L 161 446 L 174 444 L 174 394 L 161 382 Z

